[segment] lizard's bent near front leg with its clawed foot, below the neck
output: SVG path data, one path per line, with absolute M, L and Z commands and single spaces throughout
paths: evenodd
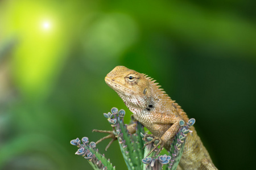
M 158 150 L 156 151 L 156 154 L 152 157 L 155 157 L 155 156 L 159 155 L 159 153 L 160 153 L 160 151 L 162 151 L 164 145 L 166 145 L 166 143 L 171 141 L 172 137 L 174 137 L 174 135 L 177 133 L 177 131 L 180 128 L 179 121 L 182 120 L 180 117 L 176 116 L 175 114 L 162 114 L 162 113 L 160 113 L 160 114 L 156 115 L 155 117 L 157 117 L 157 118 L 153 122 L 152 126 L 155 126 L 154 124 L 162 124 L 162 125 L 172 124 L 172 126 L 164 132 L 162 137 L 157 137 L 157 136 L 152 135 L 152 134 L 146 134 L 144 136 L 143 139 L 146 139 L 147 137 L 153 137 L 153 140 L 150 141 L 150 142 L 147 142 L 144 146 L 150 145 L 152 142 L 154 142 L 156 140 L 159 140 L 159 142 L 155 145 L 154 148 L 152 148 L 152 150 L 147 155 L 147 156 L 149 156 L 152 153 L 152 151 L 154 151 L 156 148 L 158 148 L 158 146 L 160 146 L 160 148 L 158 148 Z

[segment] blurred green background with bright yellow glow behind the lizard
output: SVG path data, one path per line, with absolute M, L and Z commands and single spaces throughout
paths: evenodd
M 0 1 L 0 169 L 92 169 L 69 141 L 131 112 L 104 77 L 158 80 L 219 169 L 253 169 L 256 1 Z M 125 169 L 117 142 L 100 152 Z

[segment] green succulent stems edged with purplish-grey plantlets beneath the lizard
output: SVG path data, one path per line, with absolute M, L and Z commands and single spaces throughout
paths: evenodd
M 136 131 L 134 134 L 130 134 L 127 130 L 127 125 L 123 123 L 123 117 L 125 111 L 121 109 L 118 111 L 117 108 L 112 108 L 111 113 L 104 113 L 104 116 L 108 118 L 109 123 L 113 127 L 113 134 L 117 138 L 120 150 L 125 159 L 125 163 L 129 170 L 131 169 L 163 169 L 166 165 L 167 170 L 176 170 L 177 165 L 180 162 L 180 158 L 185 145 L 185 137 L 188 133 L 192 133 L 189 127 L 195 124 L 195 119 L 189 120 L 187 125 L 184 125 L 184 121 L 180 121 L 181 128 L 175 135 L 171 142 L 171 149 L 169 155 L 159 155 L 157 158 L 147 157 L 147 154 L 154 148 L 159 141 L 151 142 L 149 145 L 145 145 L 142 140 L 144 137 L 143 126 L 139 122 L 135 122 L 131 125 L 136 125 Z M 152 137 L 147 137 L 146 141 L 152 141 Z M 82 145 L 80 142 L 82 141 Z M 93 169 L 114 169 L 109 160 L 106 160 L 104 155 L 101 155 L 96 150 L 96 143 L 88 141 L 87 137 L 76 138 L 71 141 L 72 145 L 79 147 L 76 155 L 81 155 L 87 159 L 92 165 Z M 146 146 L 146 147 L 144 147 Z M 143 150 L 144 148 L 144 150 Z M 150 156 L 155 155 L 153 151 Z

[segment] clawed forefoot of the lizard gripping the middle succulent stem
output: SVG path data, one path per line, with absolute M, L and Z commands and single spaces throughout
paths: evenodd
M 152 156 L 152 158 L 155 158 L 156 156 L 159 155 L 160 151 L 163 150 L 163 147 L 164 147 L 164 143 L 162 141 L 162 139 L 160 139 L 159 137 L 155 137 L 153 134 L 145 134 L 144 137 L 143 137 L 143 141 L 146 141 L 146 139 L 148 137 L 152 137 L 152 140 L 151 141 L 148 141 L 147 143 L 145 143 L 145 145 L 143 146 L 143 148 L 147 145 L 150 145 L 151 143 L 155 142 L 155 141 L 159 141 L 158 143 L 156 143 L 156 145 L 154 146 L 154 148 L 152 148 L 152 150 L 147 154 L 146 157 L 148 157 L 153 151 L 157 150 L 156 151 L 156 154 Z M 158 146 L 160 146 L 160 148 L 158 148 Z

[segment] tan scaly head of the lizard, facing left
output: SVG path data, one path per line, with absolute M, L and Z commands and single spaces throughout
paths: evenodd
M 105 77 L 109 87 L 123 99 L 126 106 L 146 107 L 150 82 L 144 74 L 127 69 L 125 66 L 115 67 Z

